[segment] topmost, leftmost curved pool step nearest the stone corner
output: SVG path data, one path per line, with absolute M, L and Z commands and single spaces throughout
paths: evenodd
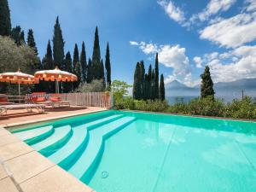
M 54 133 L 54 131 L 55 129 L 53 128 L 53 126 L 49 125 L 28 131 L 16 132 L 14 134 L 16 137 L 19 137 L 22 141 L 32 145 L 51 136 Z

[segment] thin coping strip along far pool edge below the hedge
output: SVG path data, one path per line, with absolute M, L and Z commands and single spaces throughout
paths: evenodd
M 225 118 L 225 117 L 207 116 L 207 115 L 168 113 L 168 112 L 154 112 L 154 111 L 140 111 L 140 110 L 131 110 L 131 109 L 117 109 L 117 108 L 114 108 L 113 110 L 125 111 L 125 112 L 137 112 L 137 113 L 167 114 L 167 115 L 173 115 L 173 116 L 192 117 L 192 118 L 204 118 L 204 119 L 222 119 L 222 120 L 232 120 L 232 121 L 247 121 L 247 122 L 256 123 L 256 119 Z

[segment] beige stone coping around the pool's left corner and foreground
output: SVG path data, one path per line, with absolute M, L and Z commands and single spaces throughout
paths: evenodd
M 31 125 L 107 110 L 107 108 L 102 108 L 88 113 L 67 114 L 54 118 L 0 125 L 0 188 L 4 191 L 16 192 L 33 192 L 35 189 L 38 192 L 96 192 L 15 137 L 8 129 L 19 125 Z M 20 180 L 20 177 L 26 178 Z

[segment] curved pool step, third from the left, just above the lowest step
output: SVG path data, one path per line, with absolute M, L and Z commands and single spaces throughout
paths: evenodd
M 55 162 L 55 164 L 58 164 L 64 169 L 68 169 L 79 158 L 81 151 L 86 148 L 89 140 L 87 127 L 91 126 L 92 128 L 96 128 L 96 126 L 107 124 L 108 122 L 121 117 L 122 115 L 111 115 L 106 118 L 85 123 L 84 125 L 74 126 L 73 136 L 71 139 L 66 143 L 65 146 L 60 148 L 54 154 L 49 155 L 49 160 L 52 160 Z

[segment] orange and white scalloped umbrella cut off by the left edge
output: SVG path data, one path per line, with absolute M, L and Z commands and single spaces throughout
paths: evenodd
M 17 72 L 0 73 L 0 82 L 6 82 L 10 84 L 19 84 L 19 96 L 20 96 L 20 84 L 37 84 L 38 81 L 34 79 L 34 76 L 26 73 L 21 73 L 20 69 Z

